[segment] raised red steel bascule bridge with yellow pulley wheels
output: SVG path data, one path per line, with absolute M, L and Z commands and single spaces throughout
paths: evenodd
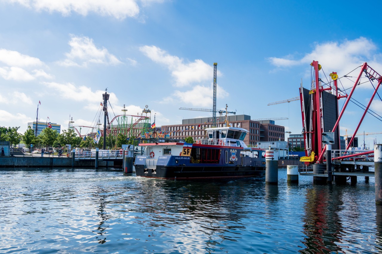
M 346 177 L 356 180 L 357 175 L 366 177 L 374 176 L 374 172 L 369 172 L 369 166 L 374 166 L 374 150 L 349 150 L 356 133 L 361 126 L 367 113 L 382 121 L 382 117 L 370 109 L 374 97 L 378 95 L 378 89 L 382 82 L 382 77 L 367 63 L 358 68 L 359 71 L 354 85 L 348 94 L 346 90 L 338 87 L 339 77 L 337 72 L 330 73 L 327 83 L 319 77 L 322 69 L 318 61 L 312 61 L 311 89 L 300 87 L 301 116 L 303 122 L 305 155 L 300 161 L 304 163 L 303 174 L 313 175 L 317 181 L 334 180 L 346 181 Z M 358 69 L 356 68 L 356 69 Z M 356 71 L 354 69 L 353 71 Z M 353 72 L 352 71 L 352 72 Z M 350 72 L 351 73 L 351 72 Z M 350 77 L 349 74 L 343 77 Z M 360 82 L 361 78 L 366 78 L 366 82 Z M 377 84 L 374 84 L 374 80 Z M 354 135 L 346 146 L 346 150 L 340 150 L 339 124 L 345 113 L 349 102 L 355 102 L 353 98 L 357 86 L 368 83 L 374 88 L 369 102 L 361 108 L 364 112 L 354 129 Z M 346 98 L 341 111 L 338 110 L 338 100 Z M 356 101 L 358 103 L 358 101 Z M 359 106 L 359 105 L 358 105 Z M 362 169 L 361 169 L 362 167 Z M 313 173 L 309 172 L 313 171 Z

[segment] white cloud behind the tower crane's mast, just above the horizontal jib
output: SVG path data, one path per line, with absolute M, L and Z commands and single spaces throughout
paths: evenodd
M 218 98 L 225 98 L 228 96 L 228 93 L 223 90 L 223 88 L 219 87 L 216 89 Z M 171 103 L 176 101 L 177 103 L 184 103 L 183 107 L 188 107 L 188 105 L 204 107 L 207 109 L 211 108 L 212 105 L 212 94 L 213 87 L 205 87 L 202 85 L 196 85 L 192 90 L 188 90 L 185 92 L 181 92 L 176 90 L 172 93 L 171 96 L 164 98 L 161 103 Z M 176 99 L 174 99 L 176 98 Z

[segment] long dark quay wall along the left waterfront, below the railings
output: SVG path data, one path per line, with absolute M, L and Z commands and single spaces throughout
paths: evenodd
M 71 167 L 71 158 L 54 157 L 0 157 L 0 167 Z M 74 167 L 94 167 L 95 160 L 74 161 Z M 98 161 L 99 167 L 106 167 L 106 161 Z M 108 167 L 113 167 L 114 162 L 108 161 Z

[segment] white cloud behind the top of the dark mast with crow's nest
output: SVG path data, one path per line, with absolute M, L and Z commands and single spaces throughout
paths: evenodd
M 101 90 L 93 92 L 90 87 L 77 87 L 71 83 L 60 84 L 57 82 L 43 82 L 42 84 L 57 90 L 65 99 L 95 103 L 96 108 L 98 108 L 99 103 L 102 101 L 102 93 L 105 93 L 105 91 Z M 113 104 L 118 103 L 118 98 L 115 93 L 110 93 L 109 100 L 113 101 Z

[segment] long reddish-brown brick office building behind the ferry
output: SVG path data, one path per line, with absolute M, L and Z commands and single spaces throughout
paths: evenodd
M 217 117 L 217 126 L 223 127 L 225 116 Z M 243 128 L 249 131 L 244 143 L 254 145 L 259 141 L 284 141 L 284 126 L 275 125 L 274 121 L 253 121 L 251 116 L 228 116 L 231 127 Z M 212 127 L 212 117 L 183 119 L 182 124 L 163 125 L 162 131 L 168 132 L 171 138 L 184 139 L 192 137 L 194 140 L 206 138 L 204 129 Z

